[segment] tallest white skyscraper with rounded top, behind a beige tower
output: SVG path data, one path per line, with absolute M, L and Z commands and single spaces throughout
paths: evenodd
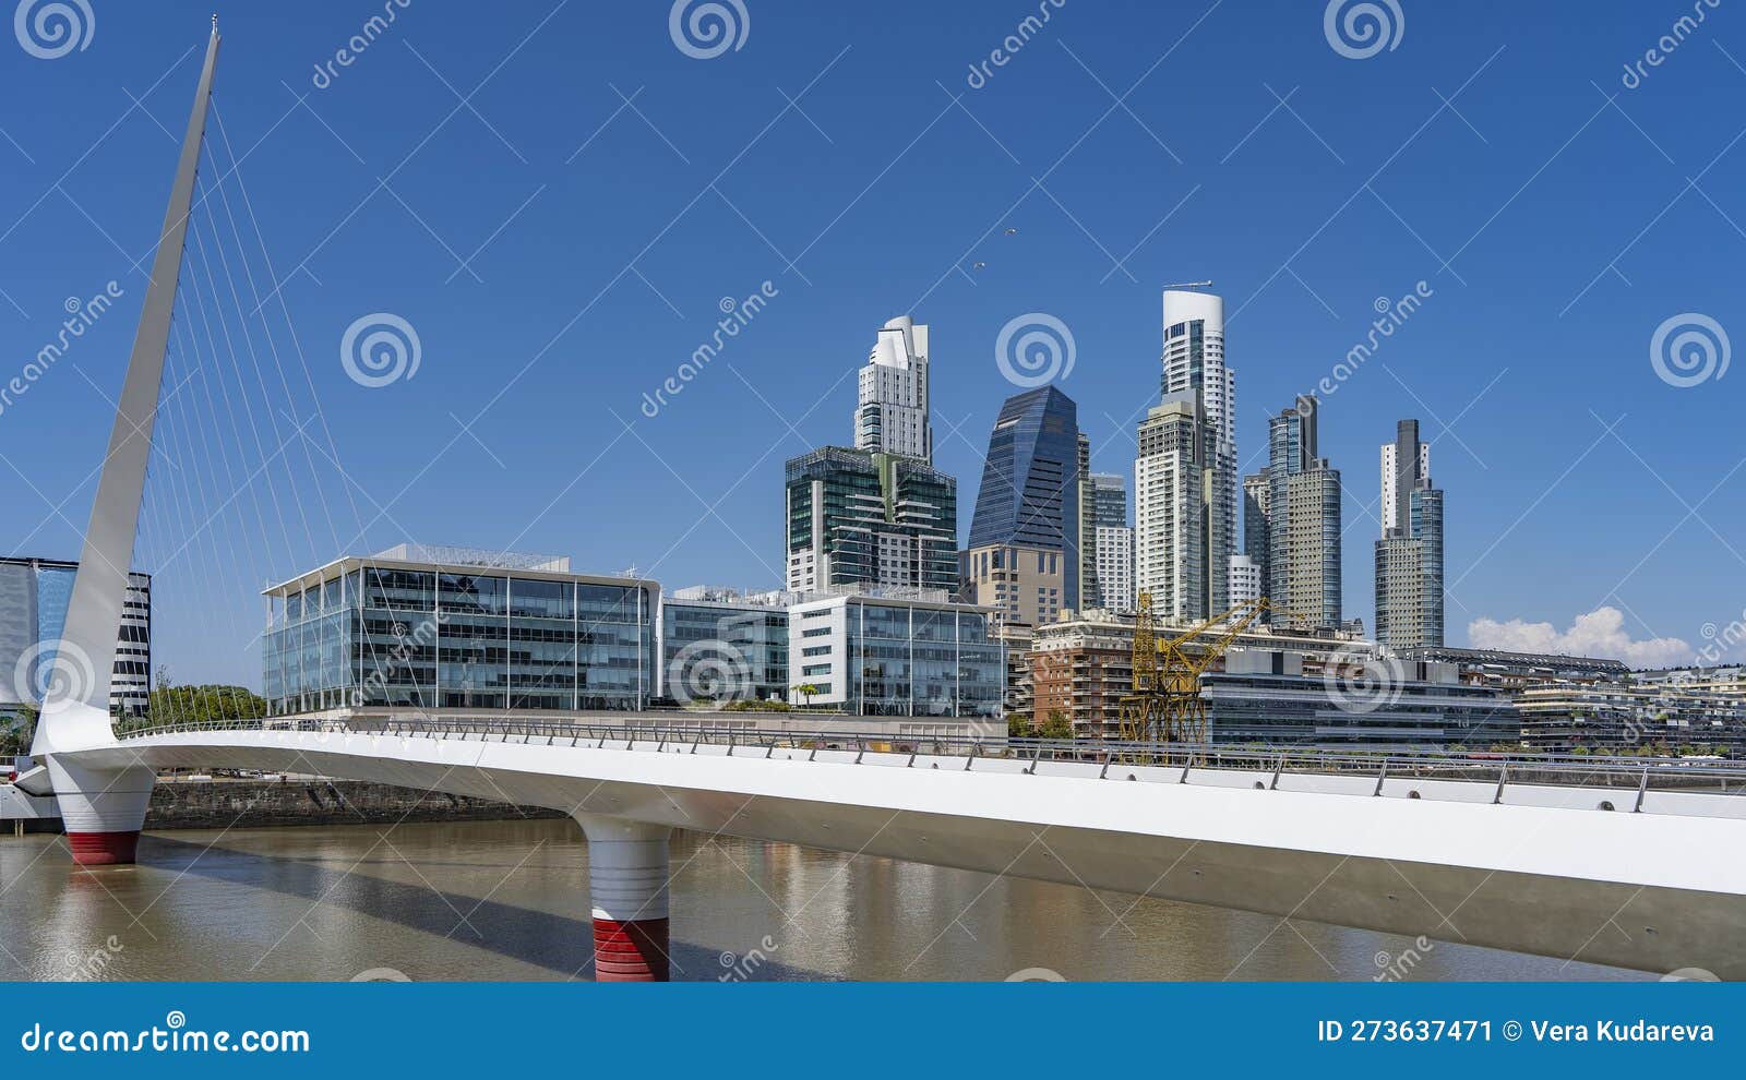
M 1224 363 L 1224 298 L 1165 290 L 1163 314 L 1163 394 L 1189 393 L 1200 408 L 1206 595 L 1198 605 L 1217 614 L 1229 607 L 1227 567 L 1236 551 L 1236 380 Z

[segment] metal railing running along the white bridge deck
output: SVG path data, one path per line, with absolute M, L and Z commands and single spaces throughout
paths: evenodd
M 665 722 L 630 719 L 620 724 L 590 724 L 524 719 L 264 719 L 204 724 L 161 724 L 120 735 L 124 740 L 154 735 L 199 731 L 314 731 L 327 735 L 377 735 L 402 738 L 480 738 L 498 742 L 548 742 L 552 745 L 627 750 L 669 750 L 681 747 L 726 747 L 730 754 L 763 750 L 850 750 L 861 762 L 868 754 L 934 759 L 964 759 L 974 768 L 978 759 L 1016 762 L 1035 771 L 1042 762 L 1077 762 L 1109 775 L 1114 766 L 1140 766 L 1149 775 L 1179 769 L 1184 782 L 1194 773 L 1243 771 L 1271 776 L 1278 787 L 1283 776 L 1348 775 L 1374 776 L 1376 790 L 1400 780 L 1460 780 L 1505 785 L 1582 785 L 1636 789 L 1746 790 L 1746 762 L 1692 761 L 1680 757 L 1585 757 L 1571 754 L 1495 754 L 1463 750 L 1365 750 L 1318 747 L 1254 747 L 1229 743 L 1170 743 L 1117 740 L 1046 740 L 974 735 L 906 735 L 890 731 L 852 731 L 843 728 L 791 731 L 711 726 L 709 722 Z

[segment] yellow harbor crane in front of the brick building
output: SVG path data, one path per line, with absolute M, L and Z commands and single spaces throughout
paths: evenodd
M 1275 611 L 1273 604 L 1261 597 L 1166 639 L 1152 621 L 1152 595 L 1142 591 L 1133 619 L 1133 693 L 1121 698 L 1121 736 L 1130 742 L 1206 742 L 1200 677 L 1266 611 Z

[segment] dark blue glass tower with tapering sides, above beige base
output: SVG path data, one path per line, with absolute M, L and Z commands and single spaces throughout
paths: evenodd
M 969 550 L 1053 550 L 1062 605 L 1079 607 L 1079 407 L 1042 386 L 1013 394 L 988 433 Z

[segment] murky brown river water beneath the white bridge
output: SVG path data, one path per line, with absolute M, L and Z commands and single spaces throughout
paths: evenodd
M 566 820 L 148 832 L 136 867 L 94 872 L 7 839 L 0 968 L 590 979 L 587 853 Z M 674 834 L 672 867 L 676 981 L 1655 977 L 728 836 Z

